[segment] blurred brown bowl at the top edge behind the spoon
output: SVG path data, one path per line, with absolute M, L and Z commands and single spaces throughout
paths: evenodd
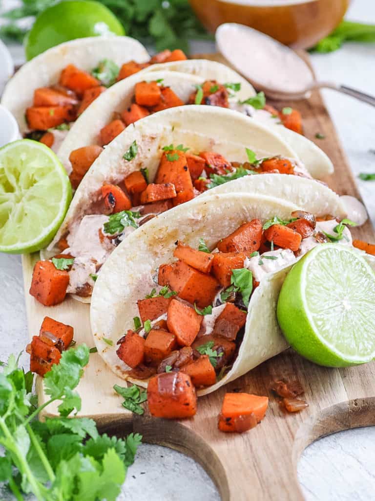
M 296 49 L 312 47 L 342 20 L 350 0 L 189 0 L 211 32 L 240 23 Z

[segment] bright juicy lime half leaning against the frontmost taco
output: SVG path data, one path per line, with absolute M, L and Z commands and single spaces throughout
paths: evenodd
M 289 344 L 318 365 L 375 357 L 375 274 L 352 247 L 317 245 L 288 273 L 277 320 Z

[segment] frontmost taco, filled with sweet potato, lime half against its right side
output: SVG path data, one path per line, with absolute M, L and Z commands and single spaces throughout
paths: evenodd
M 103 265 L 90 309 L 99 355 L 147 386 L 188 374 L 204 395 L 286 349 L 276 321 L 290 267 L 328 241 L 351 245 L 332 215 L 264 195 L 211 195 L 161 214 Z

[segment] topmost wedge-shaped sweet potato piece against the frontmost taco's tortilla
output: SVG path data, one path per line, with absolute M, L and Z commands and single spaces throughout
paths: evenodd
M 260 219 L 252 219 L 239 226 L 226 238 L 217 243 L 217 248 L 223 253 L 254 252 L 260 247 L 262 224 Z

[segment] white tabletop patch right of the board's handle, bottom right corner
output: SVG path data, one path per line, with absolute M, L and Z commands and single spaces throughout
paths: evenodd
M 316 440 L 297 466 L 306 501 L 370 499 L 375 485 L 375 427 L 339 431 Z

